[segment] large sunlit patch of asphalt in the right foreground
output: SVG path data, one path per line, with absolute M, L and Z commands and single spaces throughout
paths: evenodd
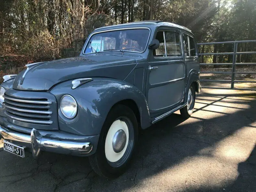
M 148 191 L 149 187 L 150 191 L 183 191 L 200 189 L 201 186 L 214 189 L 232 185 L 239 175 L 238 164 L 246 161 L 254 148 L 256 139 L 248 142 L 242 137 L 250 131 L 251 128 L 241 128 L 214 146 L 203 148 L 197 155 L 167 166 L 156 175 L 145 178 L 136 186 L 136 191 Z M 256 136 L 256 132 L 252 134 Z M 144 170 L 140 174 L 143 173 Z M 157 185 L 152 186 L 152 183 Z

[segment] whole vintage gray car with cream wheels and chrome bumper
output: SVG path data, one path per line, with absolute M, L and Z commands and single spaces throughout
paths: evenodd
M 177 110 L 189 118 L 200 92 L 194 36 L 169 22 L 98 28 L 79 57 L 26 67 L 0 86 L 4 150 L 89 156 L 105 177 L 125 171 L 138 129 Z

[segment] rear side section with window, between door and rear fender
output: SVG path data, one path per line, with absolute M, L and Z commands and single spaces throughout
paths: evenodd
M 194 38 L 187 33 L 183 33 L 183 44 L 185 53 L 185 62 L 187 66 L 187 77 L 192 71 L 199 73 L 199 57 Z

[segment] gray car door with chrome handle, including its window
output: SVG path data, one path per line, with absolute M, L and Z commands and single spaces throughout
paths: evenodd
M 185 91 L 185 62 L 181 32 L 159 28 L 155 34 L 160 46 L 151 50 L 146 97 L 151 117 L 180 105 Z

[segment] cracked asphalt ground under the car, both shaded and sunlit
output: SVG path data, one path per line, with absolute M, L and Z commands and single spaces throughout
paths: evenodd
M 256 94 L 203 89 L 187 120 L 179 112 L 139 135 L 128 171 L 109 180 L 87 158 L 3 151 L 0 191 L 256 191 Z

